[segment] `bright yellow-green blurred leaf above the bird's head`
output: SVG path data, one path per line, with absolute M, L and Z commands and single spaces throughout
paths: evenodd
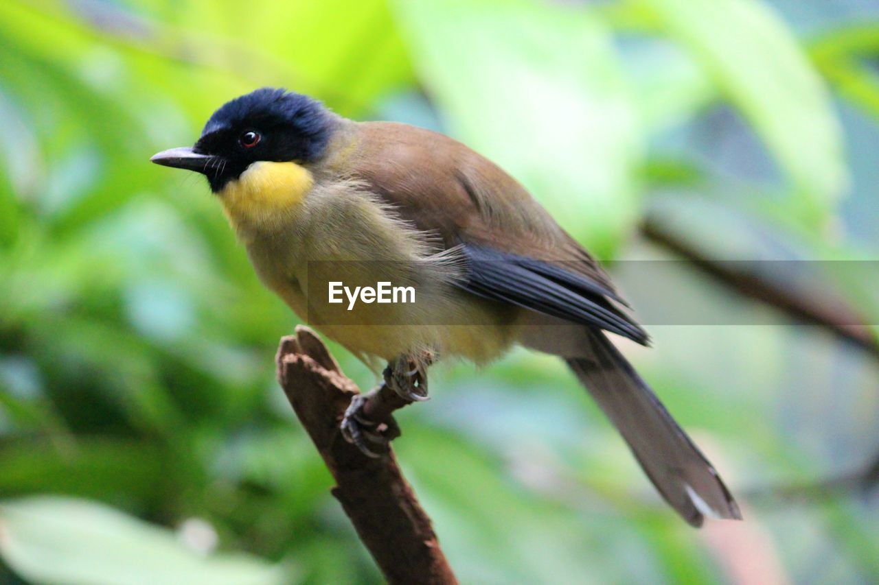
M 163 32 L 200 64 L 215 62 L 250 89 L 283 85 L 320 97 L 345 115 L 368 111 L 376 97 L 412 76 L 387 0 L 218 0 L 155 9 L 163 24 L 180 27 Z M 199 42 L 190 31 L 199 31 Z M 259 31 L 258 40 L 243 31 Z

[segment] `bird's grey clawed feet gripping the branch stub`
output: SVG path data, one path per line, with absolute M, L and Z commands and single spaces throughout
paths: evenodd
M 345 410 L 340 430 L 348 443 L 357 446 L 368 457 L 381 457 L 369 443 L 386 448 L 400 436 L 391 413 L 412 402 L 427 400 L 427 366 L 432 354 L 420 359 L 401 356 L 389 362 L 384 380 L 368 394 L 356 394 Z

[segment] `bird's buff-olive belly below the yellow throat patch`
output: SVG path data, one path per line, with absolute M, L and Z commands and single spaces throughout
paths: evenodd
M 516 310 L 455 286 L 460 275 L 431 260 L 425 235 L 368 192 L 332 184 L 311 191 L 303 205 L 283 232 L 246 243 L 263 282 L 324 335 L 361 358 L 430 350 L 477 363 L 514 341 Z M 365 287 L 381 283 L 391 288 L 389 302 L 378 300 L 378 290 L 364 296 Z M 395 299 L 396 287 L 413 293 Z

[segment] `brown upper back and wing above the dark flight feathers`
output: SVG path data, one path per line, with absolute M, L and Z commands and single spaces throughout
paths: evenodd
M 461 142 L 394 122 L 360 123 L 356 172 L 419 229 L 459 242 L 561 261 L 614 291 L 607 273 L 519 182 Z M 363 153 L 368 153 L 365 155 Z

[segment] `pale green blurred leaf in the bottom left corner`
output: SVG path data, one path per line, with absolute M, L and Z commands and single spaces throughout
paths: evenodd
M 242 554 L 201 556 L 172 531 L 102 504 L 34 497 L 0 504 L 0 555 L 29 581 L 52 583 L 289 582 Z

